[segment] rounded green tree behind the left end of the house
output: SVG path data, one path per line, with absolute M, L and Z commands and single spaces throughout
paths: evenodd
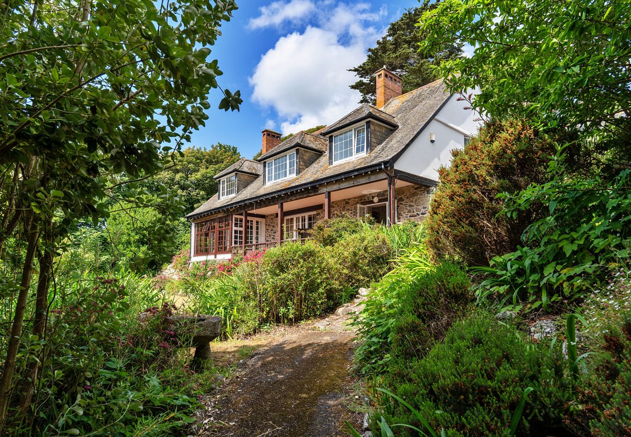
M 208 150 L 189 147 L 182 155 L 173 155 L 174 164 L 151 177 L 151 183 L 163 184 L 184 202 L 184 210 L 191 212 L 218 190 L 213 179 L 223 169 L 234 164 L 241 155 L 235 146 L 217 143 Z

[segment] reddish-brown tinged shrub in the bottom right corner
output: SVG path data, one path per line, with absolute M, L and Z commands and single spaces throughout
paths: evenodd
M 610 324 L 602 344 L 592 356 L 589 373 L 577 388 L 577 424 L 594 436 L 622 436 L 631 433 L 631 313 L 620 323 Z

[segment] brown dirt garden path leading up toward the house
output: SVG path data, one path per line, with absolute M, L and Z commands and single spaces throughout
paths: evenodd
M 355 332 L 348 319 L 361 311 L 364 299 L 327 318 L 264 335 L 254 357 L 242 361 L 237 373 L 203 401 L 201 434 L 347 436 L 345 421 L 361 429 L 363 414 L 349 409 L 357 401 L 350 374 Z

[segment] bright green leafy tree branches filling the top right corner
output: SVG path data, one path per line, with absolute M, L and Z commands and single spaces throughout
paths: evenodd
M 419 33 L 425 51 L 475 47 L 438 71 L 453 92 L 480 87 L 473 103 L 488 115 L 602 137 L 630 115 L 630 20 L 626 0 L 445 0 L 423 13 Z

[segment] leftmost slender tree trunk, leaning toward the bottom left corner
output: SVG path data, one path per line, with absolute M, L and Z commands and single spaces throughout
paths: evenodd
M 9 346 L 6 351 L 6 360 L 4 361 L 2 377 L 0 378 L 0 435 L 3 434 L 6 422 L 6 410 L 11 393 L 11 378 L 13 378 L 13 369 L 18 357 L 18 347 L 20 347 L 24 314 L 27 310 L 28 289 L 33 277 L 33 258 L 35 258 L 35 249 L 37 249 L 37 239 L 39 237 L 39 229 L 37 223 L 33 221 L 32 210 L 27 210 L 24 213 L 24 229 L 27 236 L 27 254 L 24 260 L 24 268 L 22 269 L 20 292 L 18 293 L 18 301 L 15 306 L 13 325 L 11 325 L 11 337 L 9 338 Z

